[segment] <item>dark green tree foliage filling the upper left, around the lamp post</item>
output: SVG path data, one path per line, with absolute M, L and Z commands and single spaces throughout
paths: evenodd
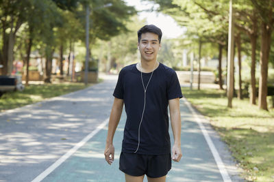
M 66 54 L 69 44 L 85 41 L 87 5 L 90 6 L 90 44 L 95 44 L 97 39 L 110 40 L 126 33 L 126 22 L 136 14 L 134 7 L 127 6 L 122 0 L 0 1 L 0 48 L 3 50 L 0 63 L 8 58 L 9 33 L 17 33 L 19 37 L 16 57 L 25 59 L 22 49 L 27 48 L 30 37 L 42 57 L 50 59 L 53 50 L 56 52 L 61 45 Z M 14 32 L 10 27 L 14 27 Z

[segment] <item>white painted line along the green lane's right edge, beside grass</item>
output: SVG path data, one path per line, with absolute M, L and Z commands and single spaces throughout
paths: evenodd
M 206 138 L 206 142 L 208 142 L 208 147 L 210 147 L 210 151 L 212 152 L 214 160 L 215 160 L 215 162 L 219 168 L 219 171 L 223 177 L 223 181 L 231 182 L 232 180 L 230 179 L 230 177 L 227 173 L 227 170 L 225 169 L 225 165 L 223 164 L 223 161 L 221 160 L 221 157 L 220 157 L 218 151 L 216 150 L 216 147 L 214 146 L 214 143 L 212 142 L 212 140 L 208 134 L 208 131 L 206 130 L 206 127 L 203 125 L 203 123 L 201 123 L 201 119 L 197 115 L 197 112 L 192 108 L 192 106 L 186 100 L 186 98 L 183 98 L 183 100 L 184 100 L 184 103 L 186 104 L 186 106 L 188 106 L 188 109 L 192 112 L 192 115 L 195 117 L 195 120 L 199 124 L 201 132 L 203 133 L 203 136 Z

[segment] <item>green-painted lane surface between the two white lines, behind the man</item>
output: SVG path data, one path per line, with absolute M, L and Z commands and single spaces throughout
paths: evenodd
M 223 181 L 208 144 L 184 100 L 180 102 L 182 116 L 182 152 L 179 163 L 172 162 L 166 181 Z M 125 181 L 119 170 L 119 155 L 125 126 L 125 112 L 114 136 L 115 158 L 112 166 L 105 162 L 103 151 L 108 125 L 98 132 L 68 160 L 43 181 Z M 173 134 L 170 125 L 171 145 Z M 145 178 L 144 181 L 147 181 Z

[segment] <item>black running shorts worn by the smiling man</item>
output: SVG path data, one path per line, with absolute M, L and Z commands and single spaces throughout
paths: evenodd
M 123 153 L 120 155 L 119 169 L 127 175 L 151 178 L 163 177 L 171 170 L 171 153 L 164 155 L 142 155 Z

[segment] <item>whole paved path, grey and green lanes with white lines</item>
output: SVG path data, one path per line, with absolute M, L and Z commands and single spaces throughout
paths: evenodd
M 103 156 L 116 76 L 105 79 L 82 91 L 1 113 L 0 181 L 124 181 L 119 153 L 125 112 L 114 136 L 112 166 Z M 186 100 L 180 108 L 183 157 L 173 162 L 167 181 L 243 181 L 208 121 Z

